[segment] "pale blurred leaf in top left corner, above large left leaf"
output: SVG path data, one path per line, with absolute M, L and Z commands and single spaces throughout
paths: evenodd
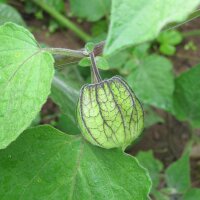
M 25 25 L 24 20 L 15 8 L 4 3 L 0 3 L 0 25 L 5 22 L 14 22 L 22 26 Z

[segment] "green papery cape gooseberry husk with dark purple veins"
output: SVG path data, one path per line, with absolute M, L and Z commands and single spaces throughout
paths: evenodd
M 106 149 L 125 149 L 144 127 L 139 100 L 118 76 L 82 87 L 77 118 L 85 139 Z

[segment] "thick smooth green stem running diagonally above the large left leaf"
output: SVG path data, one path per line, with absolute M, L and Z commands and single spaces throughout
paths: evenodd
M 67 19 L 66 17 L 64 17 L 62 14 L 60 14 L 53 7 L 49 6 L 47 3 L 44 3 L 42 0 L 33 0 L 33 2 L 35 4 L 37 4 L 39 7 L 41 7 L 43 10 L 45 10 L 53 18 L 55 18 L 63 26 L 65 26 L 66 28 L 69 28 L 74 33 L 76 33 L 77 36 L 79 36 L 85 42 L 87 42 L 88 40 L 91 39 L 91 37 L 87 33 L 85 33 L 76 24 L 74 24 L 69 19 Z

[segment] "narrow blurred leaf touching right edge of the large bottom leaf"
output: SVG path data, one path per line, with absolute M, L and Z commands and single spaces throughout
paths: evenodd
M 152 191 L 156 190 L 160 182 L 160 172 L 161 170 L 163 170 L 163 164 L 159 160 L 154 158 L 152 151 L 140 151 L 136 157 L 140 164 L 149 171 L 153 183 Z

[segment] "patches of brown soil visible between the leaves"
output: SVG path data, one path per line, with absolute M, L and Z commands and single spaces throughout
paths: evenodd
M 71 49 L 79 49 L 83 47 L 83 43 L 69 30 L 58 30 L 49 35 L 47 27 L 43 22 L 35 19 L 28 19 L 27 24 L 34 27 L 33 33 L 39 42 L 45 43 L 51 47 L 64 47 Z M 195 19 L 192 22 L 182 25 L 179 29 L 183 32 L 198 29 L 200 19 Z M 185 50 L 185 45 L 193 42 L 197 48 L 196 51 Z M 184 41 L 177 47 L 177 53 L 169 59 L 174 64 L 175 74 L 191 68 L 199 63 L 200 58 L 200 37 L 191 36 L 184 39 Z M 50 100 L 46 102 L 42 109 L 41 123 L 49 123 L 56 120 L 53 113 L 57 112 L 57 106 Z M 188 124 L 177 121 L 173 116 L 166 112 L 157 110 L 165 120 L 163 124 L 155 124 L 144 131 L 141 140 L 135 144 L 128 152 L 136 155 L 138 151 L 153 150 L 154 155 L 160 159 L 164 166 L 169 166 L 172 162 L 177 160 L 184 147 L 191 137 L 190 128 Z M 45 116 L 52 116 L 47 118 Z M 200 131 L 196 130 L 196 134 Z M 200 150 L 198 151 L 198 153 Z M 191 178 L 192 184 L 195 187 L 200 187 L 200 153 L 196 156 L 191 156 Z

